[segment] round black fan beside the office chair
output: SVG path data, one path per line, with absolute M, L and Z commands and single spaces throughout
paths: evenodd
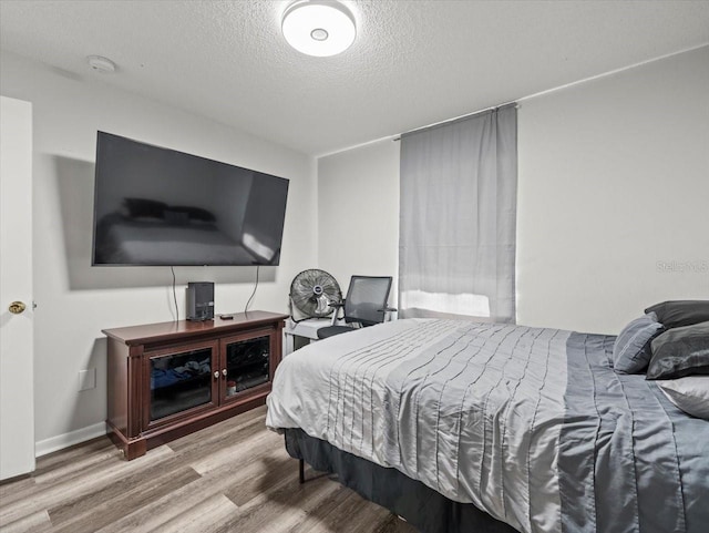
M 290 318 L 295 322 L 327 317 L 333 311 L 330 303 L 339 301 L 342 301 L 340 286 L 325 270 L 304 270 L 290 284 Z

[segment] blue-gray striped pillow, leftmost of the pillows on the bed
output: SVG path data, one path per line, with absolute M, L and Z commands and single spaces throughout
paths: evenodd
M 636 373 L 645 370 L 650 357 L 651 340 L 665 331 L 655 312 L 636 318 L 628 324 L 613 347 L 613 368 L 618 372 Z

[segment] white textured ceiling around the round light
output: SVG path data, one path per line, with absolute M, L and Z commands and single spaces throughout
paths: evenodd
M 709 42 L 708 1 L 353 0 L 354 44 L 310 58 L 289 3 L 2 0 L 0 47 L 320 155 Z

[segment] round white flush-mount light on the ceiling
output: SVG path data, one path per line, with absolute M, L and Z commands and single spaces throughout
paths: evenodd
M 284 12 L 281 28 L 288 44 L 319 58 L 343 52 L 357 34 L 350 10 L 328 0 L 300 0 L 290 4 Z

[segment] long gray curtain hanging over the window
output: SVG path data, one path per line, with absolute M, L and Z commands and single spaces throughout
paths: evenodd
M 402 135 L 399 316 L 515 321 L 517 110 Z

